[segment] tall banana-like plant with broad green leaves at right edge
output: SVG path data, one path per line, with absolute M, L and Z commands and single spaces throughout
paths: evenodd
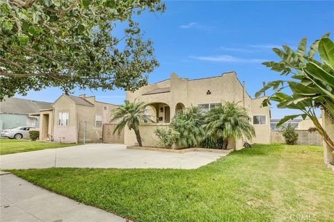
M 334 123 L 334 43 L 328 36 L 329 33 L 326 33 L 319 40 L 313 42 L 308 53 L 306 51 L 306 37 L 303 37 L 296 51 L 286 45 L 283 45 L 283 50 L 274 48 L 273 51 L 282 60 L 280 62 L 263 62 L 262 64 L 273 71 L 280 72 L 281 76 L 291 76 L 292 80 L 269 82 L 255 94 L 255 97 L 261 96 L 267 89 L 272 88 L 273 94 L 264 99 L 262 105 L 271 105 L 271 101 L 276 101 L 278 108 L 301 111 L 301 114 L 284 117 L 278 126 L 289 119 L 308 117 L 328 145 L 329 150 L 333 152 L 333 138 L 326 133 L 315 113 L 316 108 L 324 109 Z M 319 52 L 321 62 L 314 58 L 317 52 Z M 291 89 L 291 96 L 282 92 L 285 88 Z

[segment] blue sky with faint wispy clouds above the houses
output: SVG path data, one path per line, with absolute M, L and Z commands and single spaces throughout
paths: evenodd
M 286 79 L 262 65 L 279 61 L 271 50 L 286 44 L 296 49 L 302 37 L 308 45 L 324 33 L 334 35 L 334 1 L 165 1 L 166 12 L 142 13 L 135 17 L 154 42 L 159 67 L 149 83 L 170 77 L 220 76 L 236 71 L 239 80 L 254 97 L 262 82 Z M 331 36 L 333 40 L 333 36 Z M 58 88 L 29 92 L 24 99 L 55 101 Z M 97 101 L 122 104 L 125 92 L 74 90 L 74 95 L 96 96 Z M 270 94 L 270 92 L 267 92 Z M 271 105 L 271 118 L 279 119 L 298 110 L 277 109 Z

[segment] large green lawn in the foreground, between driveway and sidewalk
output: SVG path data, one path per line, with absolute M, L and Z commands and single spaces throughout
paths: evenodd
M 324 167 L 319 146 L 255 145 L 196 170 L 52 168 L 12 172 L 134 221 L 334 219 L 334 173 Z

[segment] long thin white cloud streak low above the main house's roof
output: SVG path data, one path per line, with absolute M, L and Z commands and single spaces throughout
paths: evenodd
M 210 62 L 239 62 L 239 63 L 261 63 L 264 62 L 264 60 L 257 59 L 257 58 L 237 58 L 234 56 L 228 56 L 228 55 L 221 55 L 221 56 L 191 56 L 191 58 L 195 60 L 202 60 L 202 61 L 210 61 Z

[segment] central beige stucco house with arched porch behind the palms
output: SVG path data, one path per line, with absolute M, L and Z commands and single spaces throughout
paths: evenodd
M 166 127 L 176 112 L 193 106 L 205 110 L 221 105 L 224 101 L 239 102 L 249 110 L 256 137 L 251 142 L 268 144 L 271 142 L 270 109 L 262 107 L 264 98 L 252 99 L 241 84 L 237 74 L 232 71 L 221 76 L 209 78 L 187 79 L 171 74 L 170 78 L 141 87 L 136 92 L 126 92 L 129 101 L 144 101 L 147 106 L 145 113 L 157 117 L 157 123 L 141 124 L 143 146 L 157 146 L 154 130 Z M 154 118 L 155 119 L 155 118 Z M 136 144 L 134 133 L 125 129 L 125 144 Z M 241 148 L 242 141 L 230 139 L 228 148 Z

